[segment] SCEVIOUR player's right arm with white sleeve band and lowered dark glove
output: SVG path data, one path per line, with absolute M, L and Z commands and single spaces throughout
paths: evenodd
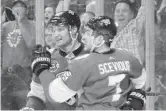
M 134 85 L 132 89 L 127 94 L 127 100 L 121 107 L 122 110 L 143 110 L 145 104 L 145 91 L 142 89 L 145 85 L 146 76 L 145 72 L 142 73 L 142 66 L 138 59 L 131 57 L 130 62 L 131 68 L 131 82 Z

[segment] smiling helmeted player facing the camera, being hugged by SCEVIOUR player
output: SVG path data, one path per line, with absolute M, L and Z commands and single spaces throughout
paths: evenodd
M 55 75 L 64 70 L 68 66 L 68 62 L 71 59 L 84 53 L 83 44 L 81 44 L 81 42 L 78 40 L 80 19 L 79 16 L 73 11 L 65 11 L 54 16 L 50 20 L 48 27 L 52 30 L 53 39 L 56 41 L 56 46 L 58 47 L 58 50 L 50 49 L 51 67 L 49 70 L 47 70 L 48 73 L 53 75 L 52 79 L 55 79 Z M 42 46 L 37 45 L 36 48 L 42 49 Z M 36 51 L 36 49 L 34 50 Z M 40 51 L 38 53 L 40 53 Z M 35 57 L 35 55 L 36 54 L 33 56 Z M 40 68 L 42 69 L 44 66 Z M 46 77 L 45 82 L 47 82 L 47 79 L 50 78 Z M 38 76 L 33 77 L 31 91 L 28 93 L 27 104 L 26 108 L 24 109 L 27 109 L 27 107 L 33 108 L 35 110 L 45 109 L 45 104 L 47 103 L 47 100 L 50 101 L 50 98 L 45 97 L 45 95 L 47 95 L 48 88 L 41 83 L 42 81 L 40 82 Z M 71 107 L 66 103 L 51 103 L 53 107 L 49 107 L 47 109 L 75 109 L 75 107 Z

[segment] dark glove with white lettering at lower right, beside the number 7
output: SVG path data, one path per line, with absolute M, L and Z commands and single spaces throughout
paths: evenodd
M 145 91 L 134 89 L 127 95 L 127 100 L 120 108 L 121 110 L 143 110 L 145 104 Z

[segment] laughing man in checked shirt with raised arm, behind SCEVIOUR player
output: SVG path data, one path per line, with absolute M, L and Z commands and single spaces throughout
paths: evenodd
M 144 44 L 141 43 L 143 26 L 145 23 L 144 0 L 136 18 L 135 9 L 129 0 L 120 0 L 116 3 L 114 19 L 118 33 L 112 41 L 111 48 L 125 48 L 132 52 L 141 63 L 144 63 Z

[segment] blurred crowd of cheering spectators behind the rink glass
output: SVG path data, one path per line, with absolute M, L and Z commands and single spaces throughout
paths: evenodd
M 145 0 L 106 0 L 105 14 L 114 18 L 117 35 L 111 42 L 111 48 L 125 48 L 132 52 L 144 66 L 145 74 Z M 50 19 L 62 11 L 63 1 L 57 5 L 45 5 L 45 44 L 57 48 L 56 40 L 48 26 Z M 77 2 L 78 3 L 78 2 Z M 109 4 L 109 5 L 108 5 Z M 155 76 L 156 91 L 166 93 L 166 0 L 155 1 Z M 76 4 L 75 7 L 78 4 Z M 111 9 L 110 9 L 110 6 Z M 81 28 L 95 17 L 95 0 L 87 0 L 79 7 L 70 6 L 80 15 Z M 111 11 L 110 11 L 111 10 Z M 108 12 L 110 13 L 108 13 Z M 110 15 L 109 15 L 110 14 Z M 32 71 L 30 68 L 31 51 L 36 44 L 35 10 L 23 1 L 14 2 L 10 7 L 1 6 L 1 109 L 17 110 L 26 103 L 30 90 Z M 166 96 L 156 96 L 155 108 L 166 110 Z

